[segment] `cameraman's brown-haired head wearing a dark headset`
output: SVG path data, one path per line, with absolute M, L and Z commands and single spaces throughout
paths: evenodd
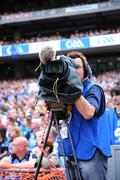
M 71 51 L 67 54 L 67 56 L 72 58 L 76 63 L 76 71 L 81 80 L 90 78 L 92 75 L 92 70 L 87 62 L 86 57 L 82 53 L 78 51 Z

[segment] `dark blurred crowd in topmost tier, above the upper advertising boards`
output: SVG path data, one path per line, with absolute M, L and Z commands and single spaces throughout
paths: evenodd
M 36 10 L 45 10 L 45 9 L 53 9 L 53 8 L 62 8 L 62 7 L 71 7 L 77 5 L 85 5 L 85 4 L 92 4 L 92 3 L 100 3 L 100 2 L 107 2 L 109 0 L 46 0 L 46 1 L 38 1 L 29 0 L 28 2 L 15 2 L 12 0 L 11 2 L 8 0 L 8 6 L 4 2 L 0 3 L 0 13 L 1 15 L 10 15 L 13 13 L 21 13 L 21 12 L 31 12 Z M 13 6 L 14 3 L 14 6 Z M 7 13 L 6 13 L 7 12 Z

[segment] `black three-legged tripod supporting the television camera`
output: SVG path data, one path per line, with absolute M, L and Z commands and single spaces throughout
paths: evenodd
M 72 173 L 71 173 L 71 161 L 65 155 L 64 146 L 63 146 L 63 142 L 62 142 L 62 136 L 61 136 L 60 129 L 59 129 L 59 120 L 61 118 L 64 119 L 64 118 L 67 117 L 66 109 L 64 108 L 65 105 L 61 104 L 61 103 L 60 104 L 53 103 L 50 106 L 51 107 L 49 107 L 49 109 L 52 112 L 52 117 L 51 117 L 51 119 L 49 121 L 49 124 L 48 124 L 48 129 L 47 129 L 47 134 L 46 134 L 46 137 L 45 137 L 43 149 L 45 149 L 45 147 L 46 147 L 48 137 L 49 137 L 49 133 L 50 133 L 50 129 L 51 129 L 51 126 L 52 126 L 52 123 L 53 123 L 53 120 L 54 120 L 55 125 L 56 125 L 56 129 L 58 131 L 58 136 L 59 136 L 59 139 L 60 139 L 60 145 L 61 145 L 62 155 L 63 155 L 63 159 L 64 159 L 65 174 L 67 176 L 67 180 L 73 180 L 74 178 L 73 178 Z M 75 155 L 75 150 L 74 150 L 72 137 L 71 137 L 71 134 L 70 134 L 70 131 L 69 131 L 68 127 L 67 127 L 67 133 L 68 133 L 68 137 L 69 137 L 71 148 L 72 148 L 73 162 L 74 162 L 72 168 L 74 167 L 75 180 L 82 180 L 80 172 L 79 172 L 79 167 L 78 167 L 76 155 Z M 38 164 L 37 164 L 37 170 L 36 170 L 36 173 L 35 173 L 34 180 L 37 180 L 37 177 L 38 177 L 38 174 L 39 174 L 39 171 L 40 171 L 40 168 L 41 168 L 41 162 L 42 162 L 42 159 L 43 159 L 43 155 L 44 154 L 43 154 L 43 151 L 42 151 L 41 155 L 39 157 Z

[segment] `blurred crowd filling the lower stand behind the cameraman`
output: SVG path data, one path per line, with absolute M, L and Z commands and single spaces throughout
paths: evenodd
M 112 107 L 110 90 L 120 82 L 120 72 L 106 72 L 98 77 L 92 77 L 100 84 L 105 92 L 107 108 Z M 38 101 L 37 79 L 4 80 L 0 82 L 0 158 L 4 158 L 13 151 L 13 142 L 16 138 L 27 139 L 28 148 L 36 158 L 41 153 L 41 144 L 46 136 L 46 128 L 50 112 L 44 101 Z M 4 129 L 4 130 L 3 130 Z M 56 166 L 59 162 L 54 152 L 57 151 L 57 131 L 52 125 L 47 144 L 46 154 Z M 25 140 L 26 141 L 26 140 Z M 50 166 L 44 157 L 43 166 Z M 2 165 L 3 166 L 3 165 Z

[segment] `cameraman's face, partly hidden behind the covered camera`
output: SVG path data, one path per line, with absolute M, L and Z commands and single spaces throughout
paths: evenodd
M 75 58 L 74 62 L 77 65 L 76 72 L 82 81 L 84 79 L 84 68 L 83 68 L 82 60 L 80 58 Z

